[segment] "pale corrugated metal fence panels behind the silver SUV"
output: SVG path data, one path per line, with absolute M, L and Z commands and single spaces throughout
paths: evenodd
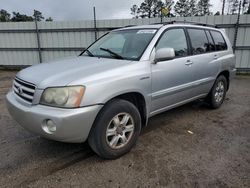
M 186 20 L 214 24 L 225 28 L 232 44 L 235 41 L 237 15 L 164 18 L 164 22 Z M 78 55 L 97 37 L 106 32 L 128 26 L 159 23 L 160 18 L 0 23 L 0 66 L 34 65 L 65 56 Z M 250 15 L 242 15 L 235 43 L 237 68 L 250 70 Z M 40 41 L 40 47 L 38 45 Z M 39 53 L 41 57 L 39 57 Z

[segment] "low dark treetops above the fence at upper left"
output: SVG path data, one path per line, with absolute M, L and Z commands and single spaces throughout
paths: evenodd
M 12 15 L 4 10 L 0 10 L 0 22 L 32 22 L 35 21 L 35 19 L 40 22 L 40 21 L 47 21 L 51 22 L 53 19 L 51 17 L 44 18 L 42 13 L 38 10 L 34 10 L 34 13 L 32 16 L 26 15 L 26 14 L 21 14 L 19 12 L 12 12 Z

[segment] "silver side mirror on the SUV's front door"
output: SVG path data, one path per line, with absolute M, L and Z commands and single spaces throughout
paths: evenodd
M 159 61 L 167 61 L 175 58 L 175 51 L 173 48 L 160 48 L 155 53 L 155 63 Z

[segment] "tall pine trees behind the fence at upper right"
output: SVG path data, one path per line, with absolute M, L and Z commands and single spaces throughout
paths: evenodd
M 221 0 L 218 3 L 226 4 L 227 14 L 237 14 L 239 0 Z M 250 0 L 244 0 L 242 3 L 243 14 L 250 14 Z M 153 17 L 175 17 L 175 16 L 205 16 L 213 15 L 211 11 L 210 0 L 144 0 L 139 6 L 131 7 L 133 18 L 153 18 Z M 224 6 L 225 7 L 225 6 Z M 218 11 L 214 15 L 220 15 Z

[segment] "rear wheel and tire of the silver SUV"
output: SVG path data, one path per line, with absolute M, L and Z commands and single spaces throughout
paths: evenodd
M 214 82 L 214 85 L 207 97 L 207 102 L 212 109 L 220 108 L 223 104 L 227 92 L 227 79 L 220 75 Z

